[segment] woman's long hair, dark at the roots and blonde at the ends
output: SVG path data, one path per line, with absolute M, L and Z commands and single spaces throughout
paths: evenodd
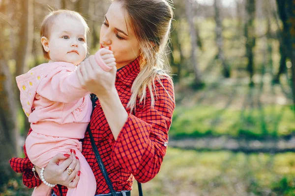
M 150 93 L 151 107 L 156 95 L 155 81 L 163 86 L 161 79 L 171 79 L 167 59 L 168 39 L 173 18 L 172 5 L 167 0 L 115 0 L 127 11 L 128 21 L 139 41 L 142 51 L 141 71 L 131 87 L 131 98 L 127 104 L 135 110 L 136 100 L 145 102 L 147 88 Z M 144 59 L 144 60 L 143 60 Z M 165 89 L 166 90 L 166 89 Z M 168 96 L 169 93 L 166 90 Z M 174 100 L 174 99 L 173 99 Z

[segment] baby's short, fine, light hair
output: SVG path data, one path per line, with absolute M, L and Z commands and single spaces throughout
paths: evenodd
M 79 14 L 78 12 L 75 12 L 75 11 L 71 11 L 71 10 L 60 9 L 60 10 L 52 11 L 47 16 L 45 16 L 44 20 L 41 23 L 41 27 L 40 27 L 40 37 L 44 36 L 49 39 L 51 26 L 54 24 L 54 21 L 58 18 L 58 16 L 60 16 L 62 14 L 81 21 L 82 24 L 85 25 L 87 34 L 89 33 L 89 26 L 87 25 L 85 18 L 81 14 Z M 47 51 L 45 51 L 43 46 L 42 46 L 42 49 L 43 49 L 44 58 L 46 60 L 50 60 L 49 53 Z

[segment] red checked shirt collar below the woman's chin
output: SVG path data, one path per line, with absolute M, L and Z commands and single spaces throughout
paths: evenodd
M 139 59 L 136 58 L 134 61 L 125 65 L 117 71 L 117 77 L 127 86 L 131 86 L 138 73 L 140 72 Z

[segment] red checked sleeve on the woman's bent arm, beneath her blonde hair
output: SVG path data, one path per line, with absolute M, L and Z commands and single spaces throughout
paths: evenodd
M 128 114 L 112 151 L 112 161 L 131 172 L 139 182 L 151 180 L 160 170 L 168 145 L 168 131 L 175 109 L 171 79 L 155 82 L 155 105 L 150 96 L 140 111 Z

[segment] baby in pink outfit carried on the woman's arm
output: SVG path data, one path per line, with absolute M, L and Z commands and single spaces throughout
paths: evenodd
M 67 196 L 94 196 L 96 180 L 85 157 L 82 143 L 90 121 L 92 103 L 89 92 L 82 88 L 76 66 L 86 57 L 86 35 L 89 27 L 77 12 L 58 10 L 47 15 L 41 25 L 43 54 L 48 63 L 17 76 L 21 103 L 29 117 L 32 132 L 26 139 L 30 161 L 41 170 L 43 183 L 32 196 L 47 196 L 55 184 L 46 182 L 44 168 L 57 153 L 74 152 L 81 164 L 80 180 Z M 111 55 L 110 55 L 111 54 Z M 115 65 L 113 52 L 99 49 L 95 58 L 104 71 Z M 111 57 L 110 57 L 111 56 Z M 105 61 L 108 60 L 108 63 Z M 67 168 L 69 175 L 74 168 Z

